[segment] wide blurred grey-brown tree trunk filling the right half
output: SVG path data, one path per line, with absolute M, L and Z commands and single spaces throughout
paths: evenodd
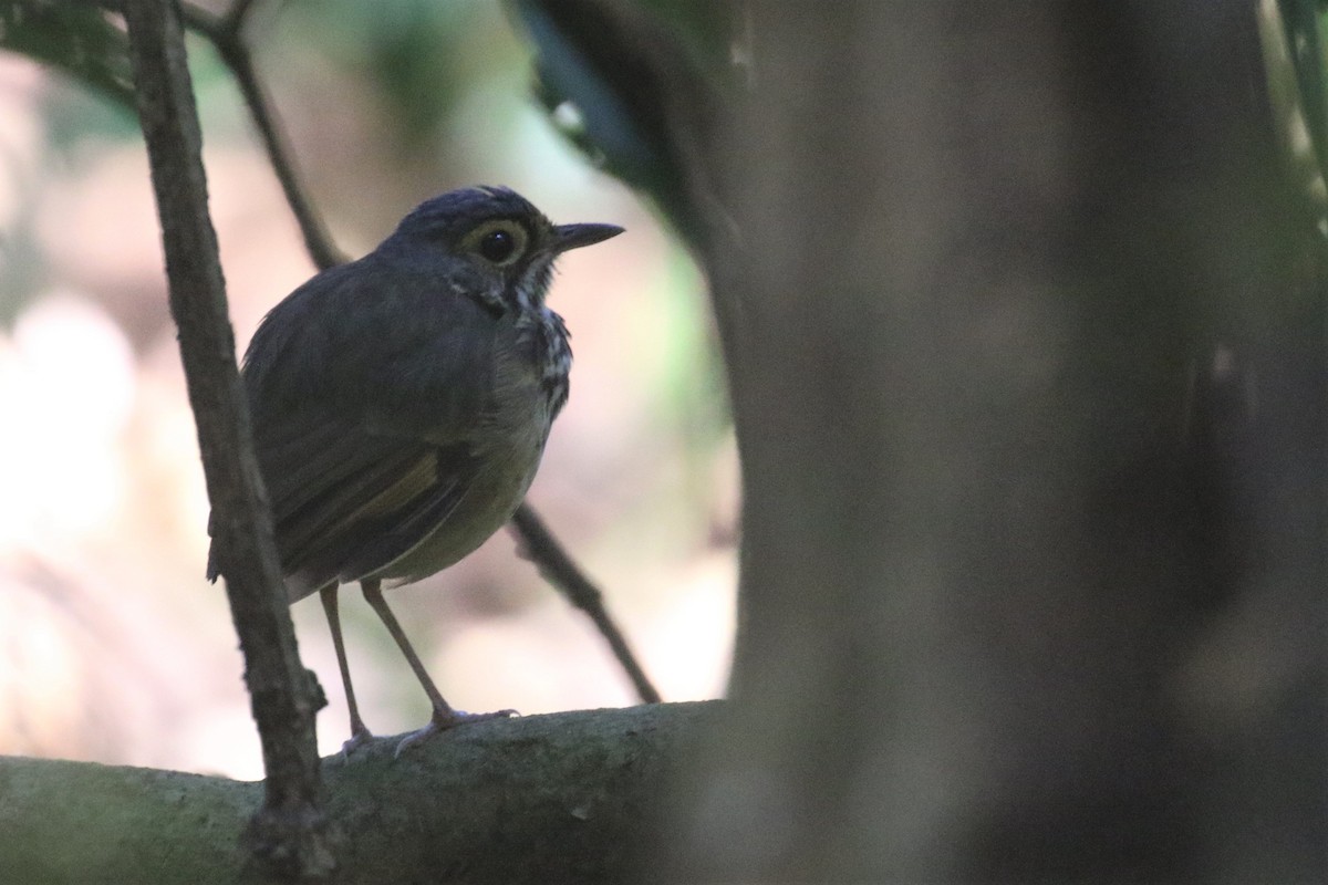
M 664 881 L 1328 881 L 1320 245 L 1244 0 L 744 5 L 736 706 Z

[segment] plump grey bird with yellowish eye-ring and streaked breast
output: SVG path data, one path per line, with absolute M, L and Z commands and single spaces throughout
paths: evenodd
M 359 582 L 429 698 L 408 746 L 467 714 L 438 691 L 384 598 L 461 561 L 506 524 L 567 402 L 571 348 L 544 304 L 555 259 L 623 232 L 554 224 L 506 187 L 425 200 L 364 257 L 321 271 L 272 308 L 244 354 L 259 472 L 288 600 L 317 593 L 351 718 L 337 606 Z M 207 577 L 224 571 L 214 539 Z

